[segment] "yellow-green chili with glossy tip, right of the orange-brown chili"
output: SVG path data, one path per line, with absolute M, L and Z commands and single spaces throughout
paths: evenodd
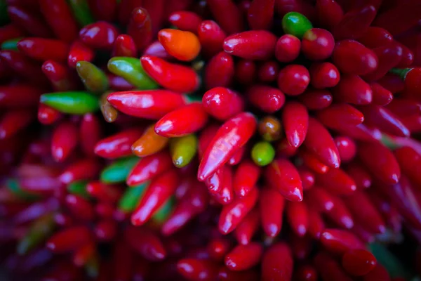
M 192 161 L 197 152 L 197 137 L 194 134 L 170 139 L 173 164 L 182 168 Z

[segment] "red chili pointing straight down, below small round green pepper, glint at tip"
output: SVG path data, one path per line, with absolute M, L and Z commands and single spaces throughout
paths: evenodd
M 276 237 L 282 227 L 283 196 L 272 188 L 262 188 L 259 200 L 262 228 L 269 237 Z

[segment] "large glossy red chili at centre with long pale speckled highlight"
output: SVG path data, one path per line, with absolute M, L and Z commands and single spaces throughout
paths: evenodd
M 208 178 L 225 164 L 236 150 L 246 144 L 253 136 L 256 126 L 255 117 L 248 112 L 242 112 L 225 122 L 203 154 L 197 172 L 199 181 Z

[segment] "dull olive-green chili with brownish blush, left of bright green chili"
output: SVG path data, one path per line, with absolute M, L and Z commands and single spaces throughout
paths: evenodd
M 107 75 L 93 63 L 79 61 L 76 63 L 76 71 L 88 91 L 93 93 L 107 91 L 109 86 Z

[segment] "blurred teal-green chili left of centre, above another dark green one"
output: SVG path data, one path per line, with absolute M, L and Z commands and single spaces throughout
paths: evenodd
M 138 164 L 139 157 L 119 159 L 102 170 L 100 179 L 102 183 L 123 183 L 128 174 Z

